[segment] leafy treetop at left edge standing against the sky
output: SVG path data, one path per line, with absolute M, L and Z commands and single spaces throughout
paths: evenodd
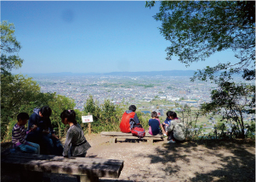
M 10 74 L 11 69 L 18 69 L 23 63 L 18 55 L 11 55 L 20 51 L 20 42 L 14 36 L 14 24 L 3 21 L 1 29 L 1 74 Z M 9 54 L 9 55 L 7 55 Z

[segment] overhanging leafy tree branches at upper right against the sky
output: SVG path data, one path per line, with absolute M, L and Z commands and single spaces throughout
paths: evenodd
M 146 2 L 145 7 L 154 5 Z M 160 32 L 171 43 L 166 49 L 168 60 L 175 55 L 189 66 L 214 52 L 231 49 L 236 53 L 237 63 L 198 70 L 191 80 L 230 80 L 241 71 L 245 80 L 255 78 L 254 1 L 162 1 L 154 18 L 162 21 Z

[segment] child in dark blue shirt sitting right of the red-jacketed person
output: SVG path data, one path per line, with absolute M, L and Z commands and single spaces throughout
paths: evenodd
M 163 135 L 166 136 L 166 133 L 162 128 L 162 124 L 160 124 L 156 111 L 153 111 L 151 113 L 151 117 L 152 119 L 149 120 L 149 126 L 150 126 L 149 134 L 157 135 L 157 134 L 162 134 L 163 132 Z M 162 129 L 162 131 L 160 130 L 160 128 Z

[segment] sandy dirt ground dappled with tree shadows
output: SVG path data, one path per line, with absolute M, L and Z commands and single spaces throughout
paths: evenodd
M 136 140 L 118 140 L 100 134 L 86 135 L 91 148 L 87 157 L 102 157 L 124 161 L 119 179 L 100 181 L 255 181 L 255 141 L 186 141 L 153 144 Z M 62 139 L 65 142 L 65 139 Z M 3 147 L 3 146 L 2 146 Z M 1 181 L 19 181 L 14 174 L 1 168 Z M 63 174 L 46 174 L 52 182 L 75 182 Z

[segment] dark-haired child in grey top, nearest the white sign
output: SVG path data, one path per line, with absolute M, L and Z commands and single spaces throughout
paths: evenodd
M 76 121 L 76 113 L 73 110 L 65 110 L 60 114 L 63 124 L 70 126 L 66 133 L 63 156 L 85 157 L 88 149 L 91 147 L 83 135 L 82 128 Z

